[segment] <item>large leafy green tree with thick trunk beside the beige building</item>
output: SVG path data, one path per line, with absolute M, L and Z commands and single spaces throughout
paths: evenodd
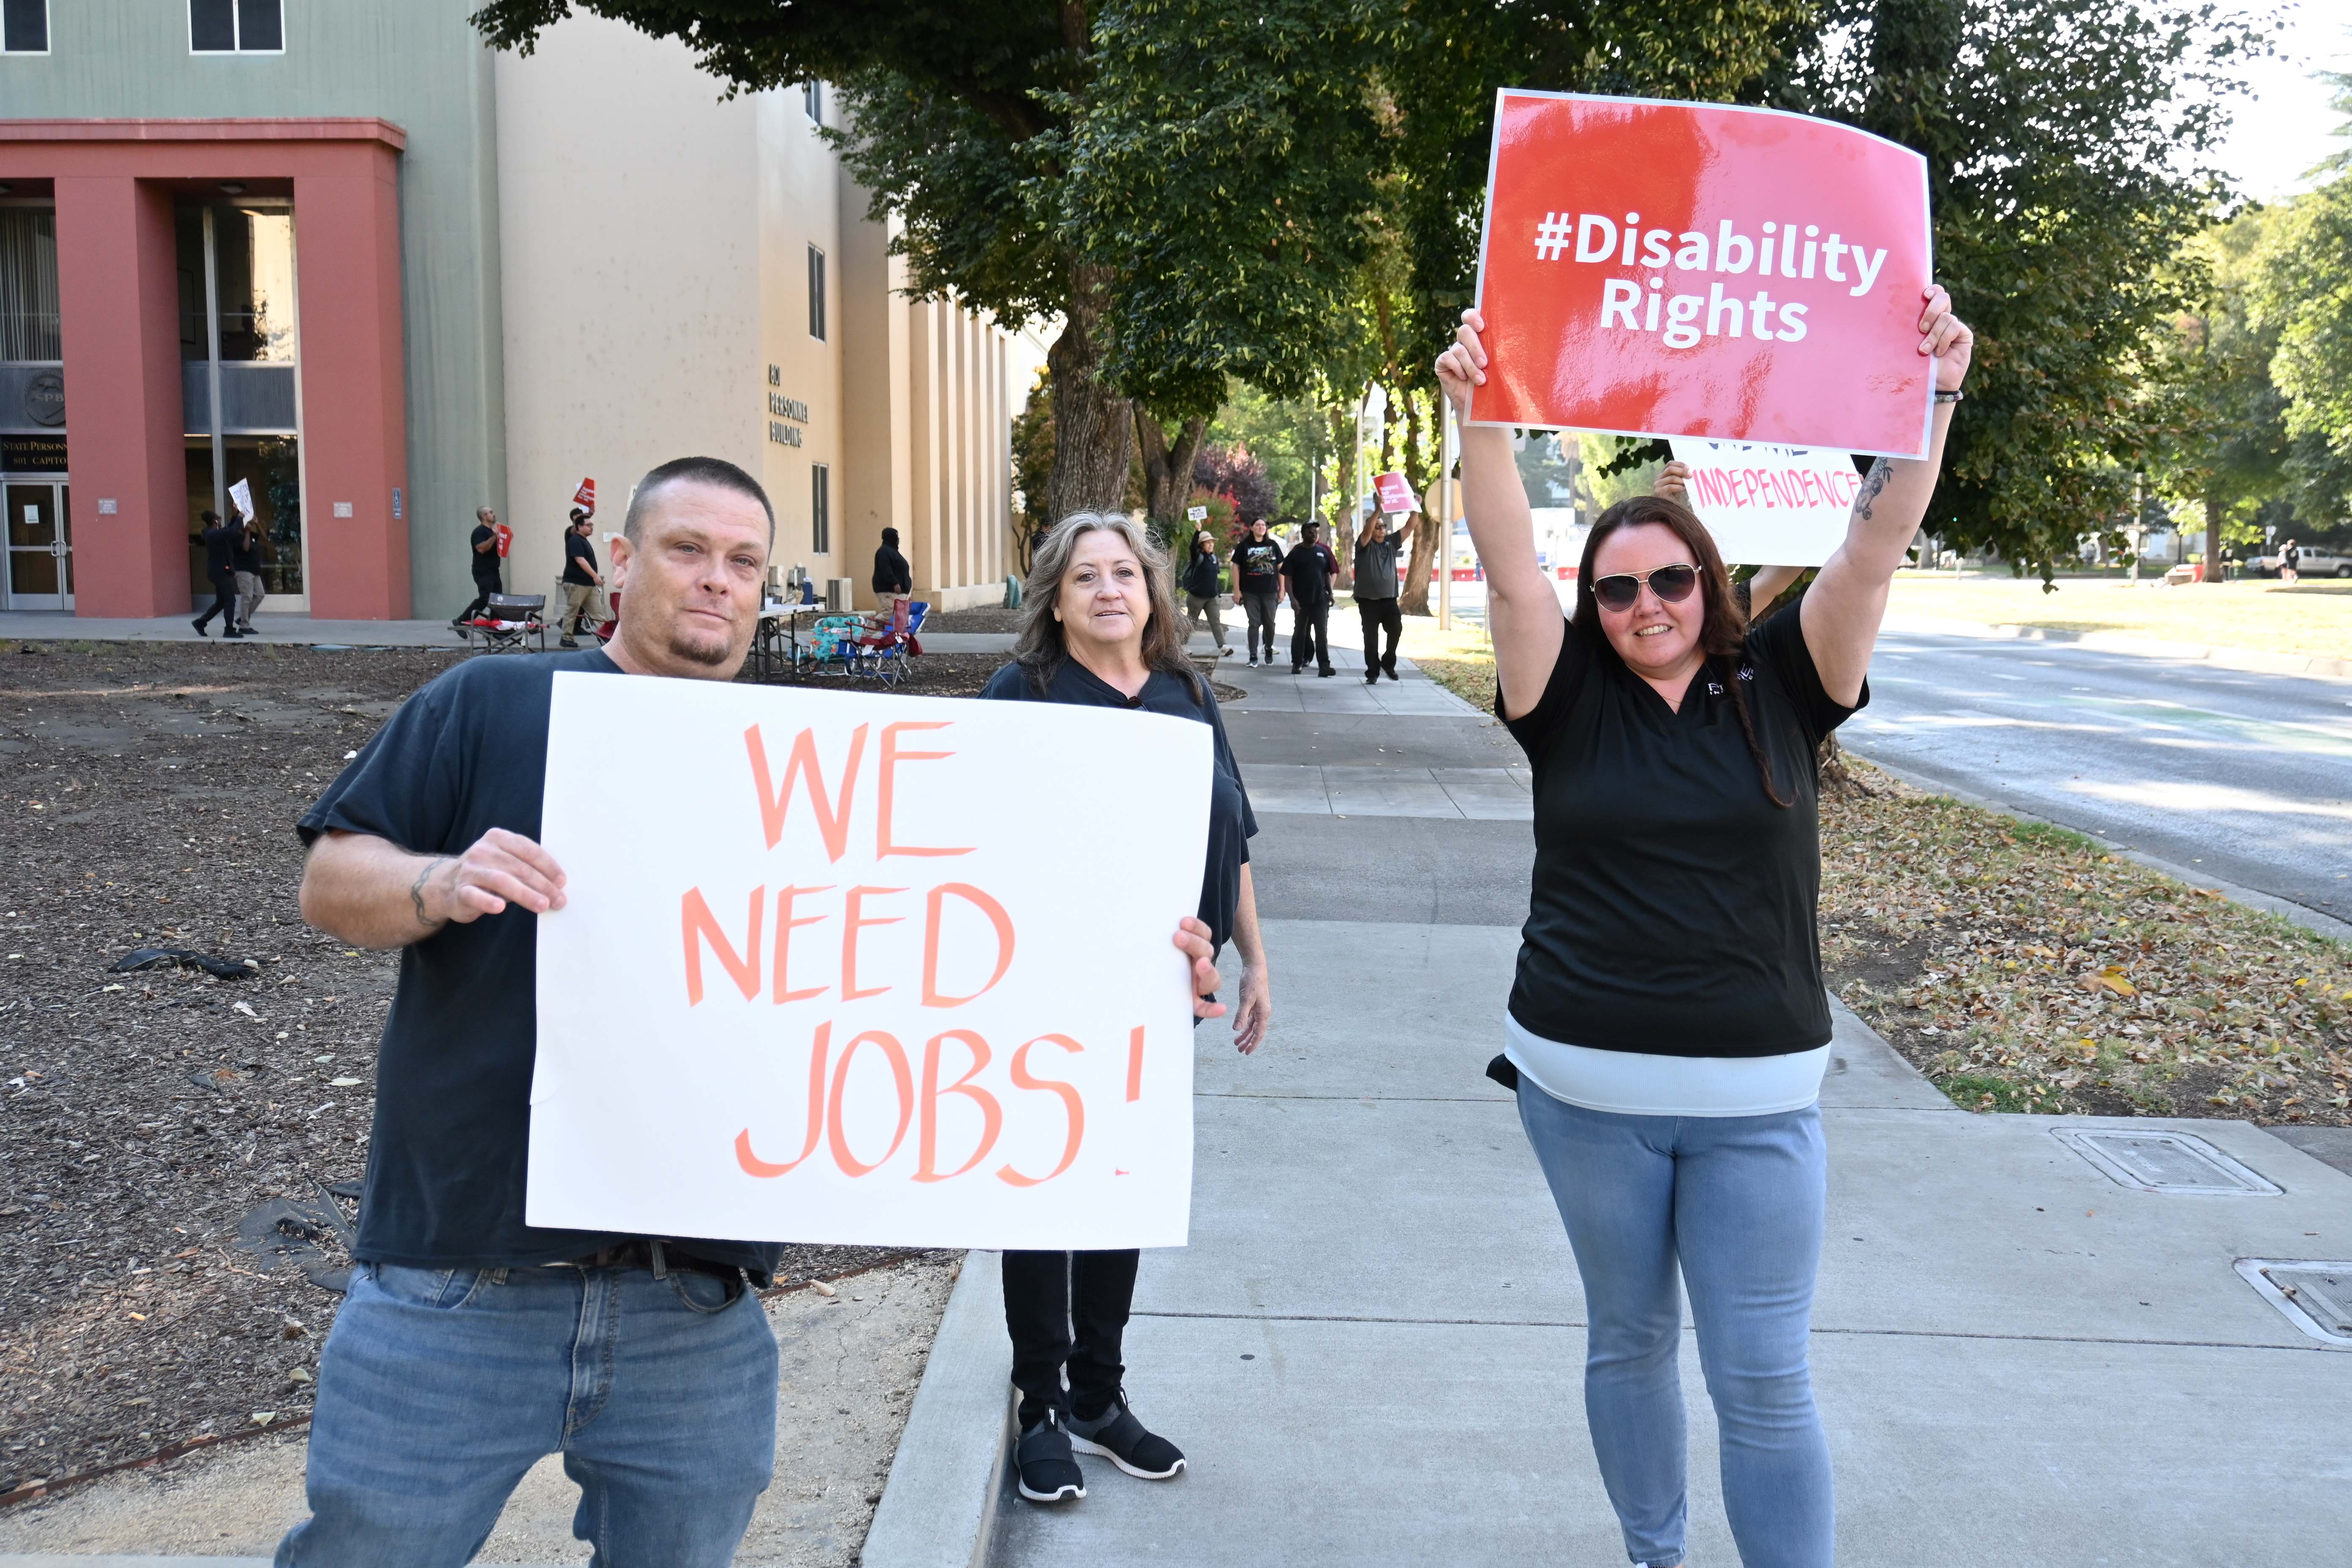
M 1124 501 L 1134 402 L 1188 430 L 1228 376 L 1296 390 L 1331 346 L 1388 0 L 489 0 L 475 26 L 529 49 L 574 9 L 731 89 L 835 82 L 913 292 L 1061 320 L 1049 515 Z

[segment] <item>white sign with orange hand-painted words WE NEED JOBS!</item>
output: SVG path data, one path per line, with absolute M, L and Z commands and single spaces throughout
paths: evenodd
M 548 757 L 532 1225 L 1183 1246 L 1207 724 L 564 672 Z

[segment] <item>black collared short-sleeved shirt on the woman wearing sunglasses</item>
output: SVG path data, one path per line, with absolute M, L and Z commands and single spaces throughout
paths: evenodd
M 1731 682 L 1790 809 L 1764 795 Z M 1860 703 L 1870 703 L 1863 686 Z M 1830 1039 L 1820 985 L 1813 748 L 1846 722 L 1795 609 L 1710 661 L 1672 710 L 1562 628 L 1543 698 L 1510 733 L 1536 769 L 1536 877 L 1510 1016 L 1597 1051 L 1783 1056 Z M 1496 698 L 1501 712 L 1501 696 Z

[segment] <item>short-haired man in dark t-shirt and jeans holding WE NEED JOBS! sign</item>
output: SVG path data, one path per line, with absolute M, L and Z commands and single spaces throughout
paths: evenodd
M 301 818 L 303 917 L 400 947 L 402 966 L 358 1267 L 320 1363 L 313 1516 L 280 1563 L 461 1563 L 557 1450 L 583 1493 L 574 1533 L 600 1561 L 724 1563 L 767 1488 L 776 1342 L 746 1276 L 764 1284 L 776 1246 L 532 1225 L 524 1168 L 539 919 L 572 884 L 539 842 L 555 675 L 729 682 L 771 538 L 741 468 L 663 463 L 614 541 L 626 597 L 609 649 L 459 665 Z M 666 806 L 630 799 L 612 825 L 659 837 Z M 1178 947 L 1195 990 L 1211 990 L 1207 931 Z M 654 957 L 607 964 L 635 973 Z

